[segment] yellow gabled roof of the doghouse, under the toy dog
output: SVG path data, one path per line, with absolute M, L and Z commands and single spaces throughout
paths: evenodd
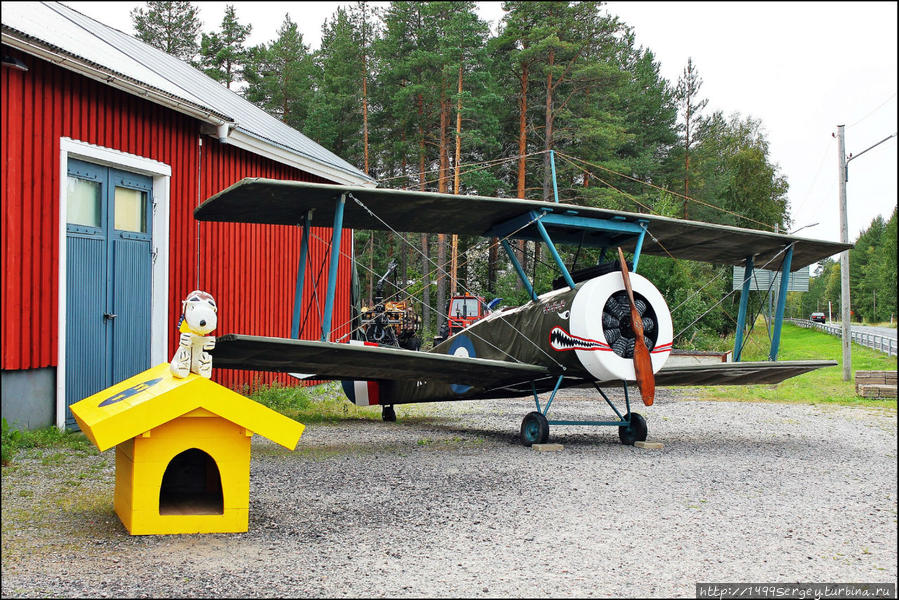
M 304 426 L 205 377 L 173 377 L 168 363 L 71 406 L 81 431 L 102 452 L 198 408 L 293 450 Z

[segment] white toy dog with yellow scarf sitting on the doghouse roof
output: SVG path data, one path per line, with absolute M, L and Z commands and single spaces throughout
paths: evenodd
M 172 375 L 184 378 L 193 371 L 202 377 L 212 376 L 212 356 L 207 350 L 215 348 L 215 336 L 208 334 L 217 325 L 217 313 L 215 299 L 207 292 L 194 290 L 181 302 L 181 340 L 169 366 Z

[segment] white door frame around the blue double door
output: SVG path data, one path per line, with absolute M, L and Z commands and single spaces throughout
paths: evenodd
M 153 178 L 153 282 L 150 304 L 150 364 L 166 362 L 169 342 L 169 185 L 171 166 L 62 137 L 59 139 L 59 321 L 56 363 L 56 426 L 66 426 L 66 178 L 70 158 L 78 158 Z

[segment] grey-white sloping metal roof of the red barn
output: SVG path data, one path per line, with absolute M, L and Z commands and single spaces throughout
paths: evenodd
M 205 111 L 212 117 L 206 119 L 210 123 L 229 122 L 232 135 L 237 135 L 229 137 L 228 143 L 332 181 L 374 183 L 344 159 L 205 73 L 68 6 L 58 2 L 4 2 L 2 21 L 4 43 L 36 53 L 30 44 L 37 42 L 57 54 L 124 78 L 132 87 L 152 91 L 147 95 L 150 100 L 169 104 L 175 110 L 183 108 L 194 116 Z M 56 62 L 66 68 L 75 66 L 69 61 Z M 133 89 L 128 91 L 134 93 Z M 166 98 L 174 102 L 166 102 Z M 179 100 L 189 106 L 180 106 Z

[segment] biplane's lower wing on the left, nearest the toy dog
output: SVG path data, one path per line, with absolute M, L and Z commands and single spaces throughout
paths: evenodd
M 254 335 L 223 335 L 211 353 L 217 368 L 299 371 L 317 379 L 427 379 L 492 387 L 549 373 L 523 363 Z

